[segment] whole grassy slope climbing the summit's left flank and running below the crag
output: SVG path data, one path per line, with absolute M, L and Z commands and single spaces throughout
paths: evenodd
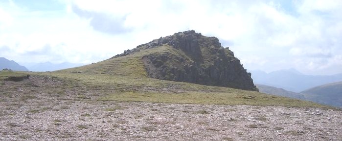
M 147 54 L 161 52 L 184 55 L 182 52 L 165 45 L 153 50 L 147 49 L 132 55 L 112 58 L 83 67 L 54 72 L 21 73 L 52 76 L 51 79 L 63 79 L 65 82 L 77 84 L 76 88 L 82 89 L 81 91 L 95 90 L 104 95 L 98 97 L 100 101 L 321 106 L 312 102 L 255 91 L 148 78 L 141 58 Z M 82 73 L 74 73 L 77 71 L 82 71 Z

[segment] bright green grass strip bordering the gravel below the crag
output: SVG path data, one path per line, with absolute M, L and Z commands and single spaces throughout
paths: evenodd
M 245 99 L 244 96 L 253 95 L 254 99 Z M 184 104 L 224 104 L 224 105 L 278 105 L 278 106 L 318 106 L 311 102 L 304 102 L 284 97 L 272 97 L 266 94 L 236 90 L 231 93 L 224 92 L 187 92 L 175 93 L 112 93 L 99 98 L 103 101 L 137 101 L 156 103 L 184 103 Z

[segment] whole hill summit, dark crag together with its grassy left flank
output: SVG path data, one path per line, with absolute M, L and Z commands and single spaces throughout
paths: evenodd
M 132 50 L 85 66 L 85 72 L 145 75 L 150 78 L 255 90 L 248 73 L 216 37 L 184 31 L 154 39 Z M 82 71 L 75 70 L 74 71 Z

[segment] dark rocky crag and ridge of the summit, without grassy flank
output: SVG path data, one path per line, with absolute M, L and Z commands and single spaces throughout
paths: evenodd
M 154 39 L 111 59 L 165 46 L 172 47 L 175 52 L 154 52 L 141 58 L 151 78 L 258 90 L 251 73 L 243 68 L 228 47 L 222 47 L 217 37 L 207 37 L 194 30 Z

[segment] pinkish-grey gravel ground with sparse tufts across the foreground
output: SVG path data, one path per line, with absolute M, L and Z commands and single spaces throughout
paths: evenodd
M 107 102 L 48 91 L 61 85 L 33 77 L 0 86 L 0 140 L 342 141 L 336 109 Z

